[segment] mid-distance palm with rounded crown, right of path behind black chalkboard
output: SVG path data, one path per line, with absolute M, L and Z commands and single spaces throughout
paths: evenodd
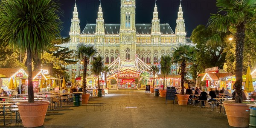
M 172 48 L 172 62 L 178 63 L 181 68 L 181 94 L 184 94 L 184 77 L 186 75 L 186 64 L 195 62 L 195 48 L 186 43 L 180 43 L 176 48 Z

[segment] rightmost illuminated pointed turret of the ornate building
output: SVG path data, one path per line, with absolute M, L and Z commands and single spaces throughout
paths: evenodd
M 183 18 L 181 0 L 180 0 L 179 11 L 178 11 L 178 17 L 176 20 L 175 34 L 177 35 L 177 42 L 179 42 L 179 43 L 186 42 L 185 20 Z

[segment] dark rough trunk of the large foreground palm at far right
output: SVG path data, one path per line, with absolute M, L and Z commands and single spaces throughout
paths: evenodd
M 236 37 L 236 102 L 241 103 L 242 100 L 242 75 L 243 75 L 243 51 L 244 51 L 244 23 L 240 23 L 239 26 L 236 26 L 237 31 L 235 34 Z

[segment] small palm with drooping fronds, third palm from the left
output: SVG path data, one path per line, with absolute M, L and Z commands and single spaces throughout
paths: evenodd
M 98 77 L 98 89 L 100 89 L 99 86 L 99 74 L 103 71 L 104 63 L 103 63 L 103 57 L 98 55 L 97 57 L 93 58 L 92 62 L 92 72 Z

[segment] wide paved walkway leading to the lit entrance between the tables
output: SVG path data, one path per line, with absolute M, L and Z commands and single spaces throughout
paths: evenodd
M 208 107 L 180 106 L 143 90 L 110 90 L 87 105 L 47 111 L 41 128 L 230 128 L 224 114 Z M 130 107 L 130 108 L 128 108 Z M 137 107 L 137 108 L 136 108 Z M 6 127 L 22 127 L 13 121 Z M 3 122 L 0 120 L 0 127 Z

